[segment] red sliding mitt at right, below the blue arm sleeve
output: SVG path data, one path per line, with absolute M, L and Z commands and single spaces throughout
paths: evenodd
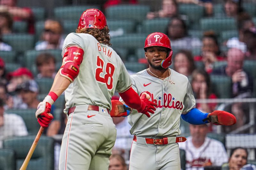
M 236 123 L 236 117 L 234 115 L 222 110 L 213 111 L 207 118 L 203 120 L 203 122 L 207 120 L 215 125 L 230 126 Z

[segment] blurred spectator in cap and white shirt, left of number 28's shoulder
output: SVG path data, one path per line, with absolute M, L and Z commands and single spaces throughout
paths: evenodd
M 36 44 L 36 50 L 45 49 L 62 49 L 64 39 L 61 37 L 63 32 L 62 25 L 59 21 L 47 19 L 44 22 L 44 32 L 42 35 L 42 42 Z

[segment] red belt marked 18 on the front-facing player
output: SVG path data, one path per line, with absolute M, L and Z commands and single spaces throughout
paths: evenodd
M 155 144 L 155 145 L 162 145 L 168 144 L 168 137 L 159 137 L 159 138 L 145 138 L 147 144 Z M 176 143 L 178 142 L 185 142 L 187 140 L 186 137 L 176 137 Z M 133 136 L 133 141 L 137 142 L 137 137 Z

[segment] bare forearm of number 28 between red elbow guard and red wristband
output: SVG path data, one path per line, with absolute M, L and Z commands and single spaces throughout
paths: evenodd
M 59 71 L 54 78 L 50 92 L 54 92 L 59 97 L 68 88 L 70 83 L 71 82 L 68 80 L 68 78 L 60 75 Z

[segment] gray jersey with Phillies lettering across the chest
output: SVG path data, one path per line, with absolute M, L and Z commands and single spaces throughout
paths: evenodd
M 188 78 L 172 69 L 170 71 L 171 76 L 165 80 L 149 75 L 147 70 L 131 76 L 135 92 L 150 92 L 149 100 L 157 104 L 150 118 L 137 110 L 132 111 L 128 116 L 131 134 L 140 137 L 180 135 L 180 115 L 195 108 L 196 101 Z M 170 79 L 175 84 L 171 84 Z

